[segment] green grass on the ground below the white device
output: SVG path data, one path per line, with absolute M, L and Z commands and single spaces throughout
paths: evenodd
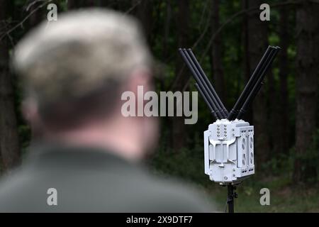
M 279 179 L 274 179 L 279 180 Z M 264 187 L 270 190 L 270 205 L 262 206 L 259 203 L 261 194 L 260 182 L 254 185 L 246 185 L 243 182 L 237 187 L 238 197 L 235 199 L 235 212 L 319 212 L 319 189 L 286 185 L 284 187 L 269 186 L 264 182 Z M 212 182 L 212 184 L 214 184 Z M 210 195 L 220 211 L 225 210 L 227 188 L 212 185 L 204 189 Z

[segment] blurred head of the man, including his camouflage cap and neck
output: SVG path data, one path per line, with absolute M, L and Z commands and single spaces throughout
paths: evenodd
M 121 94 L 152 89 L 152 56 L 134 18 L 89 9 L 44 22 L 13 55 L 23 111 L 45 140 L 96 145 L 129 158 L 154 144 L 152 118 L 121 114 Z

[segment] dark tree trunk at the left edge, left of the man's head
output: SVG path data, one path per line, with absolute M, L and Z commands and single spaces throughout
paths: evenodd
M 9 18 L 9 0 L 0 0 L 0 28 Z M 13 99 L 13 86 L 9 73 L 9 42 L 0 40 L 0 153 L 2 169 L 9 170 L 18 164 L 20 149 L 18 127 Z

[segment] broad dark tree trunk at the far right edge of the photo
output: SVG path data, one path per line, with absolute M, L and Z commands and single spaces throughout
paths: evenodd
M 308 1 L 296 9 L 296 160 L 293 180 L 300 182 L 316 177 L 315 167 L 307 157 L 316 126 L 319 70 L 319 5 Z

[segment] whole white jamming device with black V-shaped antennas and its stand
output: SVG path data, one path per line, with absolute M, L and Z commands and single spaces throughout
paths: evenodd
M 195 87 L 206 102 L 214 123 L 204 132 L 205 173 L 213 182 L 228 185 L 228 211 L 234 212 L 235 184 L 254 174 L 254 126 L 242 121 L 247 107 L 262 87 L 262 81 L 279 52 L 268 46 L 233 109 L 228 113 L 191 49 L 179 48 L 196 80 Z

